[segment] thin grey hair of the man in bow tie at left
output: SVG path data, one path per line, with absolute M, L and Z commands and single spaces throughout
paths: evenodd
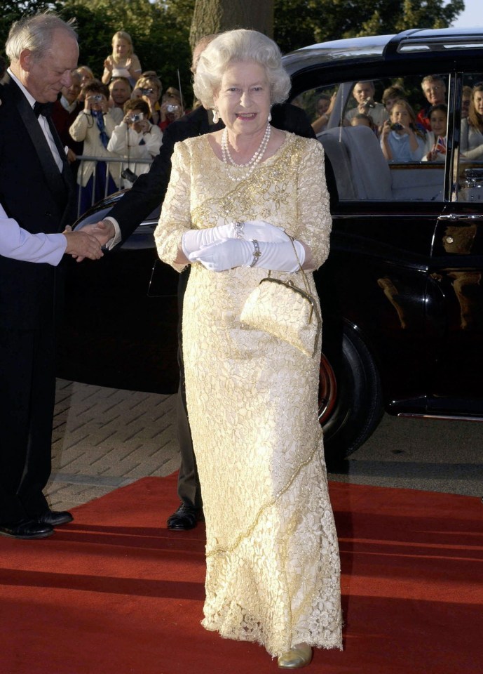
M 27 16 L 12 25 L 5 43 L 5 52 L 11 62 L 18 61 L 24 49 L 28 49 L 34 58 L 43 58 L 53 42 L 53 34 L 57 30 L 64 30 L 77 39 L 73 28 L 74 21 L 62 21 L 53 13 Z

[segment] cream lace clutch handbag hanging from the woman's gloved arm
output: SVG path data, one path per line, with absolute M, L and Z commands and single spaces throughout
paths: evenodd
M 292 237 L 290 241 L 294 246 Z M 268 277 L 261 279 L 245 300 L 240 321 L 256 330 L 268 332 L 313 357 L 318 348 L 322 321 L 295 246 L 294 251 L 305 290 L 292 281 L 273 279 L 268 272 Z

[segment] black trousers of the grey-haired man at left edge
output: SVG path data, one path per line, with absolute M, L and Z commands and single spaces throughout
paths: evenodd
M 0 522 L 48 508 L 55 404 L 53 322 L 0 332 Z

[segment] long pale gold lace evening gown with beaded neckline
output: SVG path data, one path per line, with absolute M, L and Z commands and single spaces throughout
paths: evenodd
M 186 229 L 258 219 L 306 242 L 319 266 L 331 227 L 322 152 L 286 133 L 273 157 L 233 183 L 206 136 L 177 143 L 155 232 L 160 258 L 181 270 L 174 260 Z M 273 275 L 302 285 L 298 273 Z M 192 265 L 183 353 L 206 520 L 203 626 L 278 656 L 300 642 L 340 648 L 342 620 L 319 356 L 240 324 L 245 298 L 265 276 L 258 267 Z

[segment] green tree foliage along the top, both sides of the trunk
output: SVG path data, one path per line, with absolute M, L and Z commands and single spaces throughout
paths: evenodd
M 231 0 L 219 0 L 230 2 Z M 284 53 L 326 40 L 397 33 L 408 28 L 442 28 L 464 9 L 463 0 L 275 0 L 274 38 Z M 77 19 L 81 55 L 97 77 L 111 53 L 117 30 L 130 33 L 143 70 L 156 70 L 163 85 L 178 86 L 189 100 L 189 29 L 195 0 L 3 0 L 0 41 L 13 20 L 54 8 Z

